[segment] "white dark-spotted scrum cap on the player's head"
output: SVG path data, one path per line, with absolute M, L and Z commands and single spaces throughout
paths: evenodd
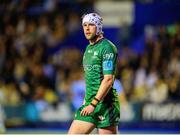
M 102 34 L 102 18 L 97 13 L 89 13 L 82 17 L 82 25 L 85 23 L 94 24 L 96 26 L 96 35 Z

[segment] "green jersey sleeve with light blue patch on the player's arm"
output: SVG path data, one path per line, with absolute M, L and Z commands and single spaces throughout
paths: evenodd
M 102 51 L 102 68 L 103 74 L 114 74 L 116 67 L 117 50 L 115 47 L 108 45 Z

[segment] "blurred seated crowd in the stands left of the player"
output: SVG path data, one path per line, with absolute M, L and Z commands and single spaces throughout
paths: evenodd
M 79 31 L 81 12 L 91 8 L 90 3 L 58 0 L 0 3 L 0 113 L 3 105 L 6 115 L 11 113 L 7 107 L 16 107 L 12 115 L 23 114 L 29 121 L 51 116 L 55 120 L 68 119 L 63 114 L 69 108 L 75 109 L 70 87 L 82 78 L 82 52 L 70 48 L 49 54 L 49 49 Z M 84 7 L 82 11 L 79 6 Z M 57 115 L 54 110 L 59 107 L 61 114 Z M 38 116 L 43 111 L 45 114 Z

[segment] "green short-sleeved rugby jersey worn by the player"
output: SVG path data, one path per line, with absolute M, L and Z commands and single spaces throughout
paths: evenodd
M 101 39 L 94 45 L 88 45 L 83 56 L 83 67 L 86 81 L 85 101 L 90 103 L 95 97 L 103 75 L 115 74 L 117 48 L 107 39 Z M 108 99 L 117 99 L 114 89 L 109 90 Z M 109 100 L 108 100 L 109 102 Z

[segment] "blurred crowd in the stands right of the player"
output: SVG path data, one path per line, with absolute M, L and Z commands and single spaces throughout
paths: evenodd
M 180 24 L 144 28 L 141 54 L 124 47 L 120 80 L 130 101 L 162 103 L 180 99 Z

